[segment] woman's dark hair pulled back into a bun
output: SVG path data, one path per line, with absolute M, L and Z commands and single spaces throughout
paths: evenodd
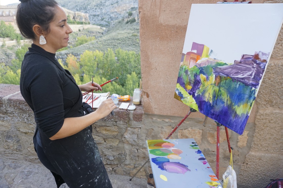
M 38 24 L 43 31 L 49 32 L 58 3 L 55 0 L 20 0 L 16 22 L 21 34 L 28 39 L 35 39 L 33 26 Z

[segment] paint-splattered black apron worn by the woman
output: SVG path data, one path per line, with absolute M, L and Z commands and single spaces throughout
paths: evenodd
M 76 83 L 70 72 L 63 69 L 56 59 L 50 60 Z M 85 114 L 81 99 L 82 96 L 68 110 L 65 118 Z M 81 107 L 78 108 L 78 105 Z M 35 151 L 42 164 L 52 172 L 58 188 L 63 183 L 67 183 L 70 188 L 112 188 L 91 133 L 92 125 L 72 136 L 50 140 L 38 126 L 36 127 L 33 138 Z

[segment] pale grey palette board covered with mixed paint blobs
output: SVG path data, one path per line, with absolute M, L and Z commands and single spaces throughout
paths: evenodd
M 147 140 L 147 149 L 156 188 L 221 188 L 194 139 Z

